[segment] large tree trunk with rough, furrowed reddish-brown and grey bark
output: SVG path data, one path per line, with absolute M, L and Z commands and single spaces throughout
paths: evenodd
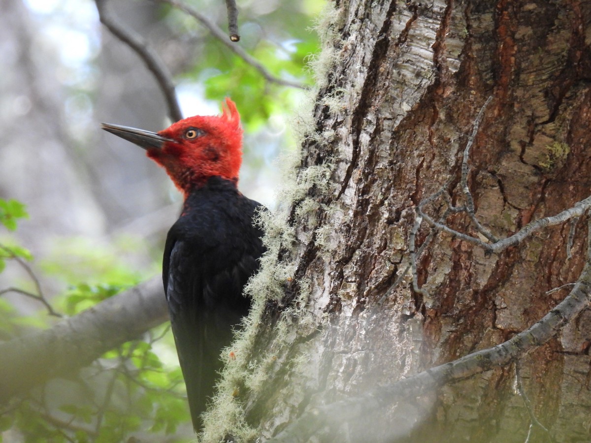
M 570 287 L 547 291 L 586 260 L 575 220 L 493 254 L 439 233 L 409 269 L 417 205 L 442 187 L 465 204 L 462 154 L 489 96 L 468 161 L 479 222 L 506 237 L 589 196 L 590 2 L 331 8 L 314 120 L 301 123 L 301 164 L 281 194 L 287 223 L 267 220 L 270 252 L 249 288 L 259 318 L 233 349 L 207 441 L 272 438 L 319 405 L 502 343 L 552 310 Z M 468 213 L 445 208 L 437 198 L 424 211 L 479 237 Z M 417 248 L 430 232 L 421 225 Z M 512 364 L 314 437 L 587 441 L 590 317 Z

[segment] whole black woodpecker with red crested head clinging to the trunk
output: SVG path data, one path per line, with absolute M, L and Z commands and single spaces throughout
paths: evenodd
M 240 116 L 226 99 L 222 115 L 190 117 L 158 133 L 106 123 L 102 128 L 146 149 L 184 194 L 183 211 L 166 239 L 163 282 L 197 432 L 223 365 L 220 352 L 251 307 L 242 288 L 264 252 L 254 224 L 262 206 L 237 187 Z

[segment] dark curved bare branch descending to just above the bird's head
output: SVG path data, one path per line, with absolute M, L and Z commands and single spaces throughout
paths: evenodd
M 173 120 L 173 122 L 181 120 L 183 114 L 178 105 L 177 95 L 174 90 L 173 77 L 164 62 L 150 45 L 148 45 L 148 42 L 144 37 L 131 30 L 131 28 L 121 25 L 117 19 L 111 15 L 106 7 L 106 0 L 95 0 L 95 2 L 96 9 L 99 11 L 100 22 L 105 25 L 115 37 L 119 38 L 119 40 L 134 50 L 139 58 L 144 61 L 148 70 L 154 74 L 156 82 L 164 94 L 170 119 Z

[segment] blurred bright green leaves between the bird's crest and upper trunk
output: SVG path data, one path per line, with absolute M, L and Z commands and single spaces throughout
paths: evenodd
M 305 6 L 298 2 L 277 2 L 269 5 L 269 10 L 259 6 L 241 8 L 239 47 L 275 79 L 310 86 L 307 58 L 319 51 L 319 40 L 310 30 L 310 22 L 322 8 L 322 2 L 309 2 Z M 203 85 L 207 99 L 220 102 L 231 96 L 241 110 L 247 131 L 260 130 L 269 117 L 287 115 L 301 101 L 301 90 L 265 79 L 258 67 L 203 34 L 202 26 L 188 15 L 167 5 L 163 7 L 163 16 L 176 32 L 200 35 L 193 48 L 193 63 L 183 72 L 183 80 Z M 219 27 L 225 28 L 226 17 L 219 14 L 218 20 Z

